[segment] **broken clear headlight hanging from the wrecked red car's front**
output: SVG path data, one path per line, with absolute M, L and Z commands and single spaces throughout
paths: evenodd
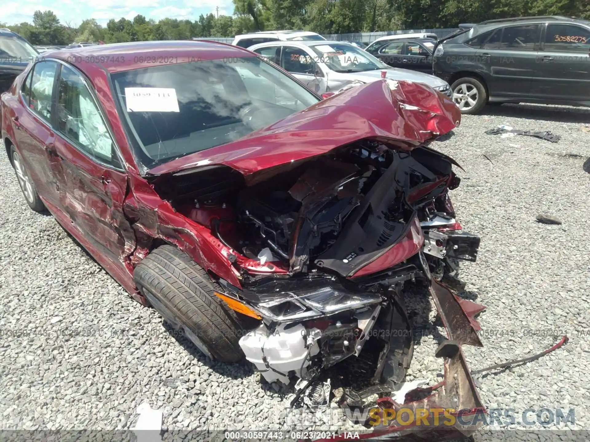
M 326 286 L 309 292 L 284 293 L 281 299 L 261 302 L 256 309 L 272 321 L 290 322 L 357 310 L 380 301 L 381 296 L 375 293 L 349 293 Z

